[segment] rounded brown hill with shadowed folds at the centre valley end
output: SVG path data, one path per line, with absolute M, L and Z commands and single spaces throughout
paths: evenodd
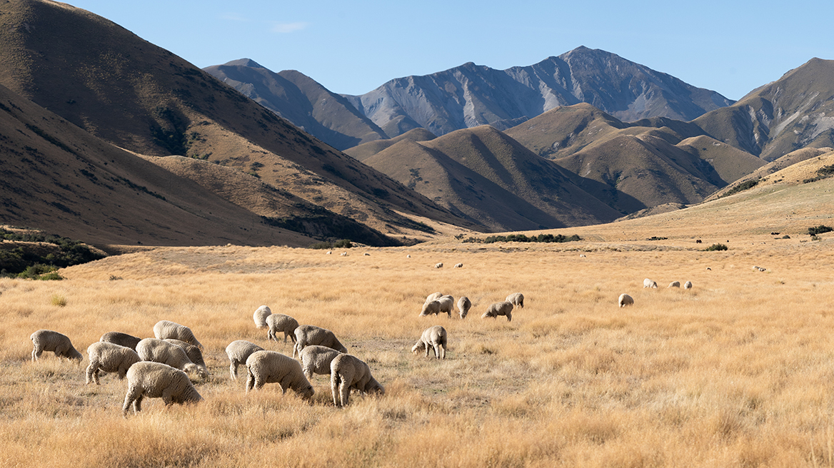
M 620 216 L 570 174 L 494 127 L 403 139 L 366 164 L 495 231 L 579 226 Z

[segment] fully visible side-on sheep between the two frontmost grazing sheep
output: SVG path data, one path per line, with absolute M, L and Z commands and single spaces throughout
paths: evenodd
M 264 384 L 277 383 L 283 393 L 292 389 L 304 400 L 309 400 L 313 394 L 313 386 L 301 371 L 301 364 L 289 356 L 277 351 L 255 351 L 246 359 L 246 392 L 260 390 Z

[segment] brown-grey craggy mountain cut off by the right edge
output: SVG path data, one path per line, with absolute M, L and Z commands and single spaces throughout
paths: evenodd
M 802 147 L 834 147 L 834 61 L 811 59 L 730 107 L 693 123 L 765 161 Z

